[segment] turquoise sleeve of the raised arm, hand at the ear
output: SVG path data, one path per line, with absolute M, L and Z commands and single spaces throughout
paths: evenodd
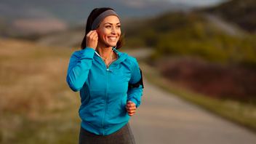
M 87 47 L 71 55 L 66 81 L 74 92 L 79 91 L 87 81 L 94 54 L 95 49 Z

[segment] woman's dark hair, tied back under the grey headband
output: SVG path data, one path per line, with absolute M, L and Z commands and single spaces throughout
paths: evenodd
M 89 14 L 89 17 L 87 18 L 87 24 L 86 24 L 84 39 L 83 39 L 83 41 L 81 41 L 81 49 L 84 49 L 85 47 L 87 47 L 87 33 L 89 33 L 89 31 L 92 31 L 93 21 L 101 13 L 103 13 L 106 10 L 109 10 L 109 9 L 114 11 L 114 9 L 112 9 L 110 7 L 100 7 L 100 8 L 93 9 L 92 12 Z M 116 49 L 119 49 L 120 47 L 122 47 L 122 45 L 124 44 L 123 39 L 124 39 L 124 35 L 121 34 L 121 36 L 119 38 L 119 41 L 117 41 L 117 43 L 116 43 Z

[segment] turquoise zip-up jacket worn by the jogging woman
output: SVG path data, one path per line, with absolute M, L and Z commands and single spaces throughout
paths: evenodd
M 73 52 L 68 65 L 68 86 L 74 92 L 80 91 L 81 127 L 96 135 L 110 135 L 127 124 L 127 101 L 139 107 L 143 95 L 142 85 L 128 89 L 128 84 L 141 79 L 137 60 L 114 51 L 118 59 L 108 68 L 90 47 Z

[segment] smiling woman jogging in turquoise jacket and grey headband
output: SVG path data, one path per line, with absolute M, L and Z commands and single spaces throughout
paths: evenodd
M 79 143 L 135 143 L 128 121 L 140 105 L 143 80 L 137 60 L 117 50 L 121 44 L 119 15 L 108 7 L 93 9 L 66 78 L 80 91 Z

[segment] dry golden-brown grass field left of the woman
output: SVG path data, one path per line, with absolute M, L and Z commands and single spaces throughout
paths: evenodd
M 79 93 L 65 82 L 72 52 L 0 39 L 0 143 L 78 143 Z

